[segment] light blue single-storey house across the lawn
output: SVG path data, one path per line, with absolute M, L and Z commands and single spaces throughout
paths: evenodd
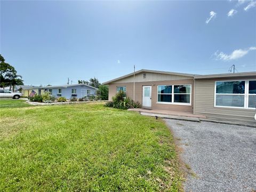
M 39 88 L 38 94 L 42 94 L 44 91 L 50 92 L 55 97 L 65 97 L 67 99 L 90 99 L 93 96 L 99 96 L 97 88 L 85 84 L 44 86 Z

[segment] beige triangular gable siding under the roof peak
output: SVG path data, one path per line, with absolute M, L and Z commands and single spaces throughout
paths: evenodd
M 143 74 L 146 74 L 146 78 L 143 78 Z M 149 72 L 142 72 L 135 75 L 135 82 L 173 81 L 173 80 L 183 80 L 183 79 L 193 79 L 193 77 L 182 76 L 182 75 L 149 73 Z M 133 81 L 134 81 L 133 76 L 130 76 L 123 79 L 119 79 L 112 83 L 131 83 Z

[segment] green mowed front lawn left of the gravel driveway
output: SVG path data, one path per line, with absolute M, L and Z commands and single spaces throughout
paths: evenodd
M 180 191 L 161 120 L 101 103 L 1 109 L 0 191 Z

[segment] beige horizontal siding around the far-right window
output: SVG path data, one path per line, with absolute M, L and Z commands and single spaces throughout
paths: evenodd
M 246 80 L 244 78 L 240 78 Z M 209 118 L 222 118 L 236 121 L 255 122 L 255 109 L 214 107 L 215 81 L 226 79 L 197 80 L 195 83 L 195 114 Z M 229 81 L 227 79 L 227 81 Z

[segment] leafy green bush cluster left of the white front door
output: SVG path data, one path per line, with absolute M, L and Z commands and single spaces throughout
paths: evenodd
M 130 98 L 125 98 L 125 93 L 119 91 L 113 98 L 113 101 L 106 102 L 106 107 L 114 107 L 117 109 L 141 108 L 139 102 L 135 102 Z

